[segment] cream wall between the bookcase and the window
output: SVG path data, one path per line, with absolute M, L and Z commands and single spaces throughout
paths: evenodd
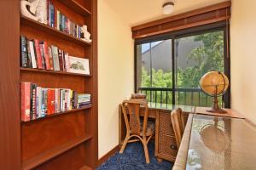
M 119 143 L 118 105 L 133 92 L 131 27 L 98 0 L 99 158 Z

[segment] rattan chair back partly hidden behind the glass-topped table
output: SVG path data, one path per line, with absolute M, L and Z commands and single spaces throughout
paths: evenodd
M 174 131 L 177 148 L 181 143 L 184 133 L 184 121 L 183 121 L 183 111 L 181 109 L 173 110 L 171 113 L 171 121 L 172 121 L 172 128 Z

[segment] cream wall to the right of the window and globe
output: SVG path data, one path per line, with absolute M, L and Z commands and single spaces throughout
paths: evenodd
M 256 1 L 232 0 L 231 107 L 256 123 Z

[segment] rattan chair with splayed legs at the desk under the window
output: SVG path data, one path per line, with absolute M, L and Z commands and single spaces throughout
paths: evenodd
M 119 153 L 122 154 L 124 152 L 127 143 L 141 141 L 146 162 L 149 163 L 148 141 L 154 135 L 154 123 L 148 122 L 147 103 L 142 100 L 125 100 L 122 103 L 122 111 L 125 117 L 126 137 Z M 144 115 L 143 121 L 141 121 L 139 116 L 142 111 Z

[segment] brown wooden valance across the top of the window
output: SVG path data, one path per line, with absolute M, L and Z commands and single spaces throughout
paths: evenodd
M 205 8 L 199 8 L 183 14 L 167 17 L 165 19 L 148 22 L 140 26 L 133 26 L 131 28 L 132 37 L 135 39 L 149 37 L 169 31 L 177 31 L 222 20 L 229 20 L 230 6 L 230 1 L 218 3 Z M 209 14 L 212 14 L 213 17 L 210 17 Z

